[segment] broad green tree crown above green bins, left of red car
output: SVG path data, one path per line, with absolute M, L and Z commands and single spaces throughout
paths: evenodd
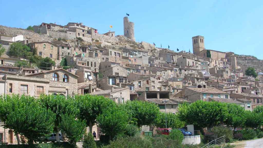
M 157 105 L 146 101 L 127 101 L 122 107 L 129 115 L 129 123 L 138 127 L 154 124 L 160 114 Z

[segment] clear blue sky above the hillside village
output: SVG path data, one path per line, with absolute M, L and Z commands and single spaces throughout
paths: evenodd
M 123 17 L 134 22 L 136 42 L 192 52 L 193 36 L 205 48 L 263 59 L 262 1 L 0 1 L 0 24 L 26 28 L 42 22 L 82 22 L 99 33 L 123 35 Z

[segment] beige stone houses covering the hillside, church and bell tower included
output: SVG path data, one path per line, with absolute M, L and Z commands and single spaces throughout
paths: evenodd
M 42 23 L 51 31 L 64 31 L 75 38 L 97 33 L 82 23 L 60 26 Z M 104 34 L 104 35 L 109 35 Z M 115 34 L 113 34 L 115 36 Z M 263 79 L 245 76 L 237 66 L 233 52 L 207 50 L 204 37 L 195 36 L 193 53 L 158 48 L 156 54 L 148 49 L 138 50 L 122 45 L 84 45 L 78 41 L 30 42 L 23 37 L 0 35 L 0 44 L 7 53 L 0 57 L 0 94 L 38 97 L 41 94 L 63 96 L 102 95 L 116 103 L 142 100 L 158 104 L 160 111 L 176 114 L 178 105 L 197 100 L 235 103 L 253 110 L 262 105 Z M 56 65 L 49 70 L 38 67 L 15 67 L 18 60 L 8 56 L 13 42 L 22 42 L 37 50 L 37 55 L 50 57 Z M 62 59 L 71 68 L 59 66 Z M 93 131 L 99 133 L 99 127 Z M 16 143 L 11 129 L 0 128 L 0 141 Z

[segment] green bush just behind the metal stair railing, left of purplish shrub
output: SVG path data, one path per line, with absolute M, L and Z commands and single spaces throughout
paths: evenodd
M 211 128 L 210 131 L 218 138 L 225 135 L 226 142 L 230 142 L 233 138 L 233 131 L 225 126 L 215 126 Z

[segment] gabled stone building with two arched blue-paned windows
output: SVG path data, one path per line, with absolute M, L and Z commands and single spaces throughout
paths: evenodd
M 62 68 L 49 70 L 31 75 L 30 78 L 45 78 L 49 80 L 48 94 L 54 95 L 77 95 L 78 94 L 78 77 Z

